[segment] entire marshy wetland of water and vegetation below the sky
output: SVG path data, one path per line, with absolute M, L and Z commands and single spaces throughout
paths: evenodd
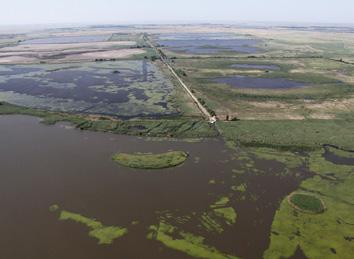
M 207 24 L 0 35 L 0 258 L 351 259 L 353 42 Z

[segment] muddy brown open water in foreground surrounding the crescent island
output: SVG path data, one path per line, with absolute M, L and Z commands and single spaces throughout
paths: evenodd
M 238 214 L 236 224 L 204 237 L 224 253 L 261 258 L 280 201 L 306 176 L 281 175 L 281 164 L 255 160 L 260 172 L 232 177 L 241 162 L 230 159 L 235 154 L 220 139 L 152 142 L 68 129 L 66 124 L 45 126 L 26 116 L 0 116 L 0 143 L 0 258 L 6 259 L 191 258 L 146 238 L 147 228 L 159 222 L 157 212 L 199 215 L 238 183 L 246 183 L 247 192 L 244 200 L 229 196 Z M 133 170 L 111 161 L 115 152 L 168 150 L 187 151 L 190 158 L 180 167 L 159 171 Z M 220 184 L 211 185 L 210 179 Z M 52 204 L 107 226 L 127 227 L 129 233 L 112 245 L 98 245 L 86 226 L 59 221 L 48 210 Z M 135 220 L 139 224 L 131 225 Z M 192 222 L 186 231 L 200 233 Z

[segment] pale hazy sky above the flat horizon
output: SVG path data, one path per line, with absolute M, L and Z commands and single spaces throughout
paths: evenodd
M 1 0 L 0 25 L 178 22 L 354 24 L 354 0 Z

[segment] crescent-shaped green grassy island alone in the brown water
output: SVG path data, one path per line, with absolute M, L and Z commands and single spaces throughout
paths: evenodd
M 130 168 L 137 169 L 164 169 L 178 166 L 188 158 L 183 151 L 170 151 L 162 154 L 151 153 L 118 153 L 113 156 L 113 161 Z

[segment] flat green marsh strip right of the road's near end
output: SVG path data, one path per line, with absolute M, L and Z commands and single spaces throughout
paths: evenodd
M 218 128 L 227 141 L 245 146 L 286 150 L 320 149 L 324 144 L 354 147 L 354 121 L 349 120 L 218 122 Z

